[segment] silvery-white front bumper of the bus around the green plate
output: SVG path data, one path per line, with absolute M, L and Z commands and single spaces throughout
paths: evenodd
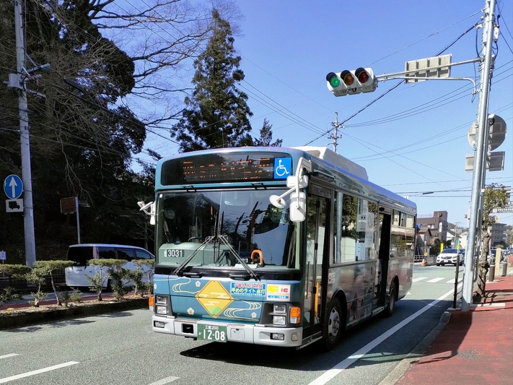
M 155 326 L 159 324 L 159 326 Z M 255 343 L 282 347 L 299 347 L 303 339 L 303 328 L 274 328 L 272 326 L 248 325 L 244 323 L 228 323 L 218 321 L 198 321 L 175 317 L 151 317 L 151 329 L 157 333 L 174 334 L 177 336 L 197 338 L 198 324 L 226 326 L 227 340 L 232 342 Z M 283 334 L 283 340 L 272 339 L 272 336 Z

